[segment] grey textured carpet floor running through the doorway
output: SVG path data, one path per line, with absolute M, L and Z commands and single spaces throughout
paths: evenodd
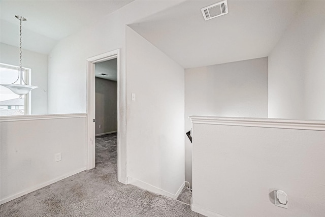
M 117 181 L 116 134 L 96 137 L 96 167 L 0 206 L 0 216 L 203 216 Z

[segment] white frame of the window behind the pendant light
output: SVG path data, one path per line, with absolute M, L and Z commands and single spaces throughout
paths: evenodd
M 14 65 L 9 65 L 9 64 L 4 64 L 0 63 L 0 68 L 6 68 L 6 69 L 12 69 L 12 70 L 17 70 L 17 75 L 18 75 L 18 66 Z M 31 69 L 22 67 L 24 69 L 24 81 L 26 84 L 31 85 Z M 17 95 L 18 96 L 18 95 Z M 24 115 L 31 114 L 31 91 L 28 92 L 28 94 L 25 95 L 24 97 Z M 12 115 L 10 115 L 12 116 Z

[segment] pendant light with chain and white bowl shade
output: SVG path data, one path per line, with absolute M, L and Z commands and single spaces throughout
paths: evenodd
M 14 94 L 19 95 L 19 99 L 21 99 L 23 95 L 28 94 L 28 92 L 30 90 L 38 88 L 38 86 L 27 85 L 26 82 L 23 79 L 24 69 L 21 67 L 21 22 L 26 21 L 26 18 L 24 18 L 22 16 L 18 16 L 18 15 L 16 15 L 15 17 L 17 19 L 19 19 L 19 21 L 20 21 L 20 58 L 19 58 L 19 68 L 17 68 L 17 70 L 18 70 L 18 78 L 12 84 L 0 84 L 0 85 L 4 86 L 4 87 L 7 87 L 11 91 L 13 91 Z M 20 84 L 15 84 L 18 80 L 20 81 Z

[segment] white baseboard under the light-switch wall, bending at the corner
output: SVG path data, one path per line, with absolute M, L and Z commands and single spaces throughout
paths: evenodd
M 144 181 L 141 181 L 141 180 L 138 180 L 136 178 L 133 178 L 133 177 L 127 177 L 127 182 L 129 184 L 133 184 L 133 185 L 136 185 L 137 187 L 140 187 L 144 190 L 147 190 L 147 191 L 150 191 L 150 192 L 153 192 L 153 193 L 156 193 L 156 194 L 159 194 L 159 195 L 164 195 L 166 197 L 170 197 L 170 198 L 173 198 L 173 199 L 176 199 L 178 197 L 178 195 L 182 192 L 184 186 L 185 186 L 185 182 L 183 182 L 181 184 L 181 187 L 179 187 L 178 191 L 175 193 L 175 194 L 172 194 L 170 192 L 167 192 L 163 189 L 159 189 L 151 184 L 148 184 Z

